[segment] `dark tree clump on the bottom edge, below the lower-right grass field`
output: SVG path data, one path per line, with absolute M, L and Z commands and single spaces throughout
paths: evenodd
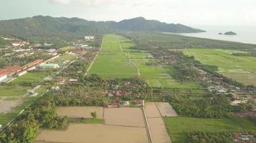
M 190 143 L 233 143 L 234 138 L 230 132 L 189 132 Z

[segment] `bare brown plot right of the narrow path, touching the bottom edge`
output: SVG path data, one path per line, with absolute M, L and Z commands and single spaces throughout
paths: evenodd
M 150 132 L 152 134 L 152 142 L 154 143 L 170 143 L 170 137 L 166 131 L 165 123 L 162 118 L 148 118 L 150 124 Z

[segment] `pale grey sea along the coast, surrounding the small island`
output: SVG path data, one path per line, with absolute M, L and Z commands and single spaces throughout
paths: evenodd
M 218 39 L 224 41 L 238 41 L 242 43 L 256 44 L 256 26 L 192 26 L 206 32 L 180 34 L 183 36 L 195 36 L 206 39 Z M 226 31 L 234 31 L 237 35 L 219 35 Z

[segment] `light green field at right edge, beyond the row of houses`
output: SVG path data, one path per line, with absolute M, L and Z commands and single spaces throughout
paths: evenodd
M 219 67 L 219 72 L 243 84 L 256 85 L 256 57 L 233 56 L 233 51 L 224 49 L 186 49 L 185 54 L 195 56 L 204 64 Z

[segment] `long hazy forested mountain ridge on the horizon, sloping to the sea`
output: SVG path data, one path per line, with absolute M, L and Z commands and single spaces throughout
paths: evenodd
M 24 19 L 0 21 L 0 33 L 23 38 L 31 36 L 63 36 L 106 34 L 113 31 L 163 31 L 173 33 L 204 32 L 182 24 L 167 24 L 143 17 L 123 21 L 88 21 L 79 18 L 33 16 Z

